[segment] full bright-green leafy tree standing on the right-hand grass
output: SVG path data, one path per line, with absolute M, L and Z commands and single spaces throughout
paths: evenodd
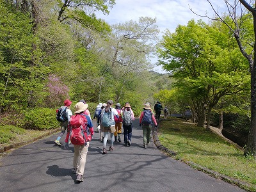
M 159 49 L 163 58 L 159 63 L 172 70 L 176 86 L 189 93 L 200 127 L 204 126 L 207 109 L 207 129 L 211 110 L 221 97 L 243 91 L 248 82 L 242 56 L 232 42 L 224 44 L 223 38 L 229 36 L 223 35 L 221 26 L 191 20 L 175 33 L 167 32 Z

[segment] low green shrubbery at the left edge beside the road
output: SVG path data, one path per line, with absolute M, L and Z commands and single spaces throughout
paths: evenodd
M 8 143 L 14 140 L 20 134 L 24 134 L 25 130 L 13 125 L 0 125 L 0 143 Z

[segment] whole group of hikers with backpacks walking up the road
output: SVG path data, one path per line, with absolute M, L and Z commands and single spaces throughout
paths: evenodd
M 65 148 L 68 148 L 70 143 L 74 145 L 74 160 L 73 172 L 77 174 L 77 182 L 83 181 L 84 166 L 86 161 L 86 153 L 88 151 L 89 141 L 93 138 L 93 124 L 88 104 L 82 99 L 74 106 L 74 115 L 70 109 L 72 102 L 68 99 L 64 101 L 64 106 L 57 109 L 56 116 L 60 122 L 61 132 L 58 138 L 54 141 L 56 145 L 61 146 L 60 139 L 67 129 L 65 138 Z M 114 150 L 114 143 L 121 143 L 122 127 L 124 130 L 124 146 L 131 146 L 132 138 L 132 122 L 134 121 L 134 113 L 129 102 L 125 102 L 121 108 L 120 103 L 113 107 L 113 100 L 108 100 L 106 103 L 99 103 L 95 109 L 93 118 L 97 118 L 97 129 L 95 132 L 100 134 L 100 142 L 103 143 L 102 154 L 107 153 L 107 143 L 109 141 L 108 151 Z M 143 130 L 143 147 L 147 148 L 150 143 L 150 132 L 152 125 L 157 127 L 156 119 L 159 120 L 162 106 L 157 102 L 153 109 L 147 102 L 140 114 L 140 127 Z M 156 118 L 154 116 L 156 113 Z

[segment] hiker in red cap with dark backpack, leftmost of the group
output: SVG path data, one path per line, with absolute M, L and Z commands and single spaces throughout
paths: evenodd
M 60 139 L 68 128 L 68 123 L 70 122 L 70 116 L 72 116 L 72 111 L 70 110 L 70 105 L 72 102 L 68 99 L 64 100 L 64 106 L 61 106 L 56 110 L 56 118 L 60 122 L 61 132 L 58 138 L 54 141 L 56 145 L 61 146 Z

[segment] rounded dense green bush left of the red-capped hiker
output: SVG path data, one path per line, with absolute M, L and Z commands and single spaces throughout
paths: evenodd
M 35 108 L 26 111 L 24 117 L 24 129 L 54 129 L 60 126 L 56 120 L 56 109 Z

